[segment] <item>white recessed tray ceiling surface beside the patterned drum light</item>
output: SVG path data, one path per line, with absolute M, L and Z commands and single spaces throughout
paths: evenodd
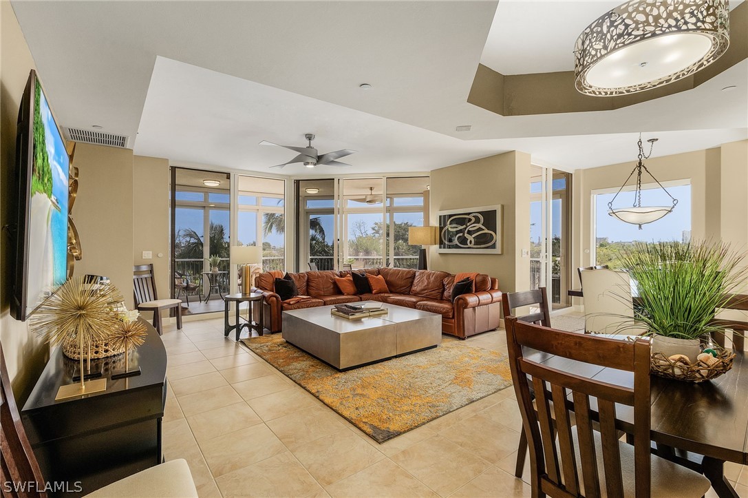
M 734 9 L 744 0 L 730 0 Z M 481 64 L 502 74 L 574 70 L 574 43 L 623 0 L 501 0 Z

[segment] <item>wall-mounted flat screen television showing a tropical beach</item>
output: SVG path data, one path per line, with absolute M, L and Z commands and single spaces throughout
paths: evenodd
M 25 319 L 67 280 L 70 157 L 31 70 L 16 134 L 16 278 L 10 313 Z

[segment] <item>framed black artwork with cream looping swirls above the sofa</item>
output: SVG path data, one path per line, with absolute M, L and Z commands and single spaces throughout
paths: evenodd
M 439 211 L 437 252 L 501 254 L 502 205 Z

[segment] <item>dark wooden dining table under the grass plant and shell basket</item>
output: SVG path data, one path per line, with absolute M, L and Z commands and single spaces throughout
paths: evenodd
M 625 335 L 604 335 L 626 340 Z M 537 350 L 526 359 L 562 371 L 634 387 L 633 372 L 577 362 Z M 748 362 L 735 351 L 732 370 L 714 380 L 690 383 L 652 375 L 650 387 L 653 452 L 699 470 L 719 497 L 738 497 L 723 471 L 726 462 L 748 464 Z M 616 405 L 616 419 L 634 431 L 633 407 Z M 703 458 L 702 458 L 703 457 Z

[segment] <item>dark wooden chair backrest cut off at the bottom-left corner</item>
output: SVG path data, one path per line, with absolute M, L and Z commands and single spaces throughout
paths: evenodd
M 0 344 L 0 483 L 3 485 L 2 496 L 10 497 L 46 497 L 42 471 L 37 458 L 28 442 L 21 416 L 16 407 L 16 398 L 5 366 L 2 344 Z M 11 486 L 7 492 L 7 484 Z M 29 488 L 29 483 L 37 483 Z M 25 485 L 24 491 L 16 491 L 15 485 Z M 39 491 L 41 490 L 41 491 Z

